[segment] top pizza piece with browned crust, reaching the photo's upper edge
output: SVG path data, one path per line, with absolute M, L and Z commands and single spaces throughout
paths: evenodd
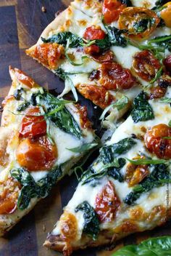
M 161 3 L 75 0 L 26 53 L 64 79 L 62 95 L 76 87 L 108 107 L 112 126 L 143 87 L 162 97 L 162 84 L 170 83 L 170 61 L 163 62 L 170 55 L 170 5 L 162 9 Z

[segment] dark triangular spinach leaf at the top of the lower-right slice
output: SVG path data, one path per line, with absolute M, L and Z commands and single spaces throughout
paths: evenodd
M 130 113 L 134 123 L 138 121 L 148 121 L 154 119 L 154 111 L 148 102 L 146 92 L 140 92 L 140 94 L 133 100 L 133 110 Z

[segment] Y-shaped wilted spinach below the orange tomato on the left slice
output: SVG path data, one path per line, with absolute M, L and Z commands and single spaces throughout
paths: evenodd
M 62 177 L 62 166 L 55 167 L 46 177 L 36 182 L 30 173 L 24 168 L 11 169 L 10 173 L 14 179 L 22 185 L 18 196 L 18 209 L 26 209 L 33 198 L 44 198 L 49 195 L 51 188 Z

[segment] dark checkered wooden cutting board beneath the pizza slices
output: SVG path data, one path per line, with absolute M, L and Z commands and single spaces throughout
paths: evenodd
M 57 76 L 43 68 L 25 55 L 25 49 L 35 44 L 43 28 L 53 19 L 56 12 L 65 9 L 70 0 L 0 0 L 0 102 L 7 95 L 11 85 L 8 67 L 21 68 L 32 76 L 38 84 L 51 92 L 62 92 L 64 84 Z M 42 7 L 46 12 L 42 11 Z M 79 97 L 80 103 L 88 108 L 88 116 L 93 127 L 101 134 L 99 123 L 100 112 L 93 104 Z M 51 231 L 54 223 L 62 213 L 75 191 L 77 180 L 75 175 L 65 177 L 57 188 L 46 199 L 43 199 L 8 235 L 0 239 L 0 256 L 52 256 L 61 255 L 42 247 L 46 234 Z M 123 244 L 135 244 L 149 236 L 171 235 L 171 224 L 154 231 L 129 236 Z M 75 252 L 73 256 L 109 256 L 114 252 L 107 249 L 88 249 Z

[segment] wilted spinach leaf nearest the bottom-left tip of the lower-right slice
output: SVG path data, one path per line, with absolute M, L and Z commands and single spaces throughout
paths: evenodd
M 83 212 L 84 217 L 84 226 L 83 232 L 93 237 L 93 240 L 96 240 L 99 231 L 100 231 L 100 221 L 98 215 L 94 211 L 93 207 L 88 204 L 88 201 L 83 201 L 75 208 L 75 212 Z

